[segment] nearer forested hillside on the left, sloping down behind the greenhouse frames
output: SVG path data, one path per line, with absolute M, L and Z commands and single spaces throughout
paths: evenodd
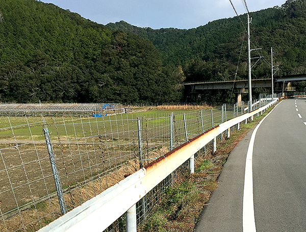
M 182 70 L 132 33 L 35 0 L 0 1 L 0 102 L 164 102 Z

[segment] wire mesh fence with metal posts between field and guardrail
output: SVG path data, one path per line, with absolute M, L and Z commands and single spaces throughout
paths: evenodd
M 0 231 L 45 226 L 186 140 L 244 114 L 245 108 L 242 102 L 105 117 L 1 117 Z M 186 165 L 137 203 L 139 222 L 182 170 L 188 171 Z M 124 231 L 124 217 L 107 231 Z

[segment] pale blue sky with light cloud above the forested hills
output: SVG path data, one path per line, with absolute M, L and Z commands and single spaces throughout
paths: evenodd
M 100 24 L 126 21 L 142 28 L 190 29 L 236 13 L 230 0 L 41 0 Z M 238 14 L 243 0 L 232 0 Z M 246 0 L 250 12 L 283 5 L 286 0 Z

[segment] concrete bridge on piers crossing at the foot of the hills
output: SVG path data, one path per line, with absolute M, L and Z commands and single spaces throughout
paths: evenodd
M 306 81 L 306 74 L 275 76 L 274 92 L 295 91 L 296 88 L 291 86 L 291 82 Z M 271 88 L 272 79 L 254 79 L 252 80 L 252 88 Z M 237 102 L 241 102 L 241 94 L 248 92 L 248 81 L 224 81 L 224 82 L 187 82 L 184 83 L 184 100 L 197 98 L 197 95 L 206 90 L 213 89 L 234 89 L 237 95 Z

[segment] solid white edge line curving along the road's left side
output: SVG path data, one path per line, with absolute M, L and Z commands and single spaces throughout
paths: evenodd
M 279 102 L 281 104 L 281 102 Z M 277 104 L 269 114 L 279 105 Z M 253 198 L 253 147 L 256 133 L 261 123 L 268 117 L 267 114 L 254 129 L 246 153 L 244 187 L 243 187 L 243 207 L 242 207 L 242 228 L 244 232 L 256 232 Z M 305 123 L 305 122 L 304 122 Z M 306 123 L 305 123 L 306 125 Z

